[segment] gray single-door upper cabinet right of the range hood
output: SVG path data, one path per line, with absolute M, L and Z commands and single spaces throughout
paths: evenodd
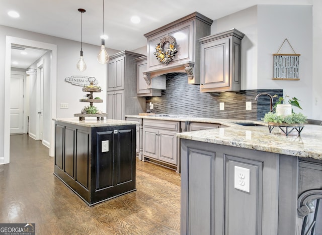
M 236 29 L 199 39 L 200 91 L 239 91 L 241 39 Z

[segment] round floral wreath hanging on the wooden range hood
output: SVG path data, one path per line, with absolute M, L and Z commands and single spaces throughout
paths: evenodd
M 169 47 L 165 49 L 164 46 L 168 43 Z M 176 39 L 172 36 L 167 36 L 161 39 L 160 43 L 155 45 L 155 52 L 153 54 L 160 63 L 168 65 L 177 52 Z

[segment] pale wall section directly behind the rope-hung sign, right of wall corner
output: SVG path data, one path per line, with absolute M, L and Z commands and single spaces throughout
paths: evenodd
M 312 116 L 312 6 L 258 6 L 258 88 L 281 88 L 284 95 L 300 99 L 303 110 Z M 299 81 L 273 78 L 273 56 L 287 38 L 299 57 Z M 294 53 L 288 44 L 280 53 Z

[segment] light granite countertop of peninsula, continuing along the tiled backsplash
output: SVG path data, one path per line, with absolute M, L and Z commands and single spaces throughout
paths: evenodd
M 322 160 L 322 126 L 318 125 L 305 124 L 300 136 L 292 135 L 293 133 L 296 133 L 295 130 L 289 136 L 285 136 L 281 134 L 280 129 L 277 127 L 270 133 L 267 126 L 245 127 L 237 124 L 255 123 L 266 125 L 262 121 L 182 117 L 163 118 L 142 115 L 126 116 L 129 118 L 221 124 L 226 127 L 194 132 L 182 132 L 178 133 L 177 137 L 187 140 Z

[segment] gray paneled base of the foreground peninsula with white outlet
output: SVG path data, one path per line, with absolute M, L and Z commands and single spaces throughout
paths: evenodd
M 235 167 L 249 169 L 249 192 Z M 280 234 L 278 167 L 278 154 L 182 139 L 181 234 Z

